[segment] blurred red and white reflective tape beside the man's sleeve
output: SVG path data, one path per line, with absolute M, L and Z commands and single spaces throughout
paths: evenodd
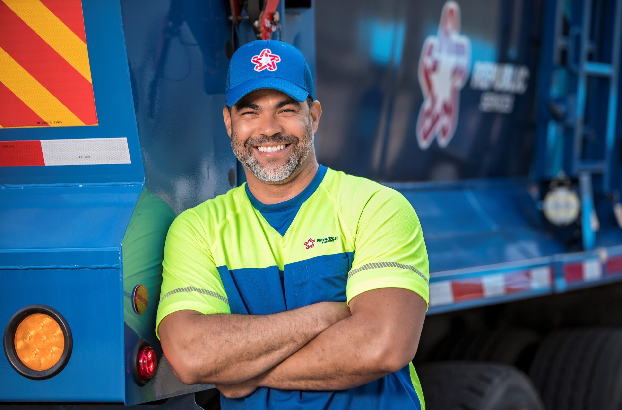
M 430 307 L 549 289 L 550 266 L 430 283 Z

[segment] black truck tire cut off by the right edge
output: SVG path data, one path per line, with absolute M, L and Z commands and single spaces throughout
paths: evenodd
M 622 408 L 622 329 L 560 330 L 542 342 L 529 372 L 547 408 Z

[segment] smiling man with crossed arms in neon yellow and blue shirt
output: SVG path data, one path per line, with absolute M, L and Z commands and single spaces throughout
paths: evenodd
M 247 182 L 182 212 L 156 329 L 175 375 L 223 409 L 424 409 L 412 367 L 429 297 L 417 215 L 318 165 L 322 106 L 302 53 L 231 58 L 223 117 Z

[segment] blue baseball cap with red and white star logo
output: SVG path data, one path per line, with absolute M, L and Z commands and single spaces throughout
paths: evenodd
M 297 101 L 313 98 L 313 78 L 299 49 L 279 40 L 255 40 L 231 57 L 227 73 L 227 105 L 255 90 L 272 88 Z

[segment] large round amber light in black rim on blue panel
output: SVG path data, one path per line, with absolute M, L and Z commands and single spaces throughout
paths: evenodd
M 65 319 L 44 305 L 16 312 L 4 330 L 4 353 L 11 366 L 30 379 L 47 379 L 63 370 L 72 350 Z

